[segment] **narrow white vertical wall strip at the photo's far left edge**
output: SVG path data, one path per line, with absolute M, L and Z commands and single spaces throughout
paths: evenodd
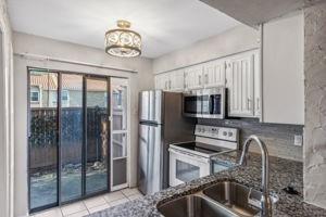
M 0 0 L 0 216 L 13 216 L 12 33 L 7 3 Z

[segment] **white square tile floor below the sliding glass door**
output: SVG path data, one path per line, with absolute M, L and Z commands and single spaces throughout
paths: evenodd
M 65 206 L 51 208 L 32 215 L 33 217 L 82 217 L 105 208 L 142 197 L 137 189 L 123 189 L 100 196 L 90 197 Z

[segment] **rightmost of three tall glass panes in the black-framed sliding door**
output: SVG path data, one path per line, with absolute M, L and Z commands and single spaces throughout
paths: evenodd
M 86 78 L 86 193 L 108 189 L 108 79 Z

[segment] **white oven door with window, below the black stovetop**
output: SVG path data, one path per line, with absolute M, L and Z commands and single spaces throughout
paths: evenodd
M 170 186 L 191 181 L 210 175 L 210 159 L 179 150 L 170 151 Z

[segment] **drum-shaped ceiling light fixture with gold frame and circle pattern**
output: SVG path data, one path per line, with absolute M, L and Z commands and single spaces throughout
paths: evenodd
M 134 58 L 141 54 L 141 37 L 130 30 L 130 23 L 117 21 L 116 29 L 105 33 L 105 52 L 120 58 Z

